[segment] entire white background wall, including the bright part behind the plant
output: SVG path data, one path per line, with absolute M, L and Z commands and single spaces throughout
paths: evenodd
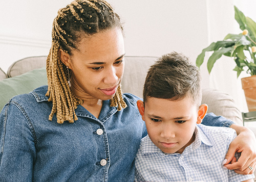
M 18 59 L 48 55 L 52 21 L 58 9 L 70 2 L 71 0 L 2 1 L 0 67 L 7 71 Z M 193 62 L 210 42 L 221 40 L 227 33 L 238 30 L 234 21 L 233 4 L 241 7 L 242 11 L 255 7 L 252 6 L 255 4 L 254 0 L 243 3 L 239 0 L 109 2 L 124 22 L 126 55 L 161 56 L 175 50 L 184 53 Z M 246 16 L 256 19 L 252 17 L 254 10 L 250 9 L 250 12 L 245 13 Z M 244 96 L 240 95 L 240 80 L 236 79 L 233 67 L 232 60 L 218 61 L 209 75 L 204 63 L 201 67 L 202 85 L 203 88 L 211 87 L 229 93 L 238 102 L 240 109 L 246 110 Z

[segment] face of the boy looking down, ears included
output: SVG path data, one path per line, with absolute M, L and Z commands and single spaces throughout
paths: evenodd
M 202 105 L 205 111 L 202 106 L 198 110 L 187 96 L 174 101 L 150 97 L 145 107 L 141 100 L 137 105 L 148 136 L 165 153 L 182 153 L 195 140 L 196 123 L 201 123 L 207 111 L 207 105 Z

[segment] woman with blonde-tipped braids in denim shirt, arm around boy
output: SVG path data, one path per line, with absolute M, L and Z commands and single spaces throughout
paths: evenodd
M 13 97 L 0 115 L 3 181 L 133 181 L 133 161 L 146 129 L 139 98 L 121 93 L 124 55 L 120 18 L 108 3 L 78 0 L 58 11 L 48 87 Z M 217 126 L 232 124 L 208 118 Z M 246 157 L 240 159 L 246 160 L 238 165 L 251 172 L 254 138 L 246 128 L 232 126 L 240 135 L 228 160 L 241 146 Z

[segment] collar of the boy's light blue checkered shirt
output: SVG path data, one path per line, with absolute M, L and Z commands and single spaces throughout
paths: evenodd
M 201 130 L 201 128 L 198 127 L 198 125 L 196 125 L 195 141 L 185 148 L 185 150 L 183 151 L 183 154 L 187 154 L 193 150 L 196 150 L 197 148 L 200 147 L 201 143 L 204 143 L 207 146 L 212 146 L 212 143 L 209 141 L 208 137 L 204 134 L 204 132 Z M 148 137 L 148 135 L 141 140 L 141 146 L 142 146 L 142 149 L 141 149 L 142 155 L 144 155 L 146 153 L 163 153 L 151 141 L 151 139 L 150 139 L 150 137 Z M 172 154 L 168 154 L 168 155 L 176 155 L 176 154 L 178 154 L 178 153 L 172 153 Z

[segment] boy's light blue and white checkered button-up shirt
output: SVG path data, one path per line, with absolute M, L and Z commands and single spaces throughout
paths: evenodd
M 195 135 L 181 154 L 166 154 L 144 137 L 136 155 L 135 181 L 238 182 L 254 178 L 222 168 L 229 144 L 237 136 L 233 129 L 197 124 Z

